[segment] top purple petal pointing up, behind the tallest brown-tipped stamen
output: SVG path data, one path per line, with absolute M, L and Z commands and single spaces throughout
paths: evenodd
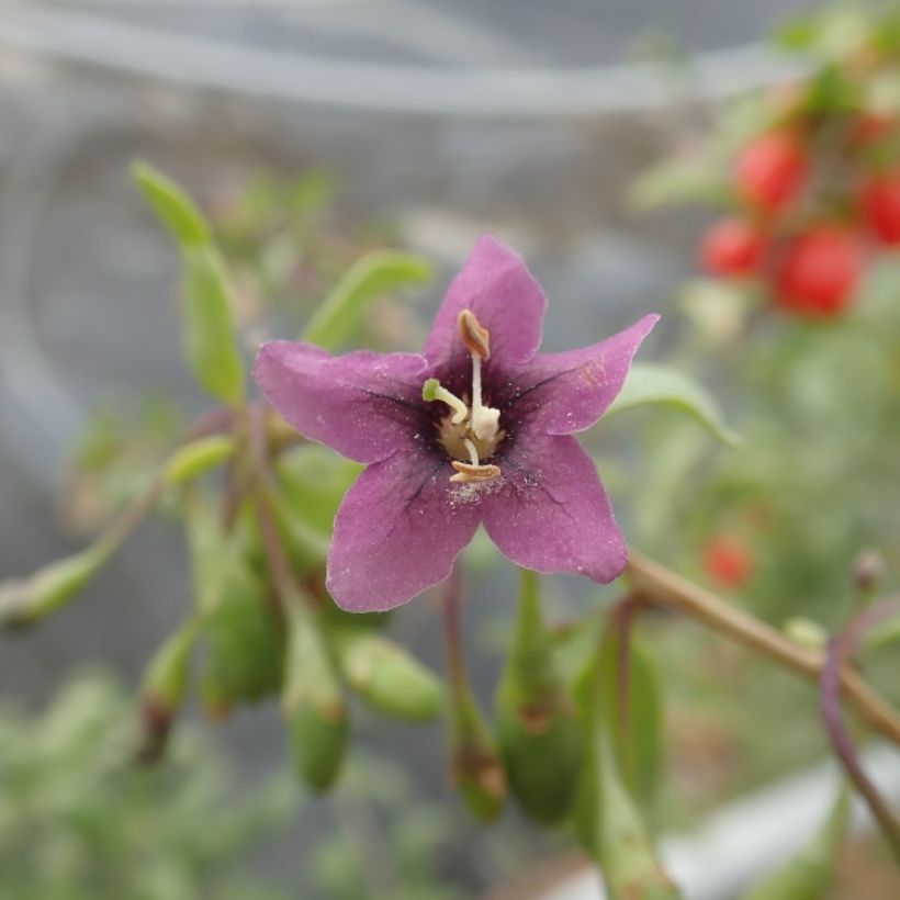
M 547 297 L 522 258 L 492 235 L 475 245 L 453 279 L 423 350 L 432 365 L 461 352 L 458 318 L 471 310 L 491 331 L 491 357 L 502 365 L 528 362 L 541 342 Z

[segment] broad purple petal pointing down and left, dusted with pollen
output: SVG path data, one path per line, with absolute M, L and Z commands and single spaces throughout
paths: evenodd
M 370 465 L 335 518 L 326 584 L 338 606 L 372 612 L 443 581 L 472 540 L 476 503 L 453 499 L 443 460 L 397 453 Z

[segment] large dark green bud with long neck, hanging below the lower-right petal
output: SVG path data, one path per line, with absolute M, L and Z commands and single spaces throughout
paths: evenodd
M 498 736 L 509 789 L 545 824 L 569 810 L 582 761 L 582 727 L 556 672 L 537 575 L 522 573 L 513 645 L 497 691 Z

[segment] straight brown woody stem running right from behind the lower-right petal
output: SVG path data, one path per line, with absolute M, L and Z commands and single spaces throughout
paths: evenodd
M 634 594 L 645 601 L 677 609 L 798 675 L 813 680 L 821 677 L 823 652 L 798 646 L 765 622 L 640 553 L 631 554 L 627 572 Z M 900 746 L 900 716 L 890 704 L 852 668 L 842 668 L 841 688 L 860 719 Z

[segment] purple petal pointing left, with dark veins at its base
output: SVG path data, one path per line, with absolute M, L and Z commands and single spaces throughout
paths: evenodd
M 269 403 L 301 435 L 358 462 L 378 462 L 427 418 L 426 362 L 416 353 L 358 351 L 333 357 L 312 344 L 263 344 L 254 378 Z

